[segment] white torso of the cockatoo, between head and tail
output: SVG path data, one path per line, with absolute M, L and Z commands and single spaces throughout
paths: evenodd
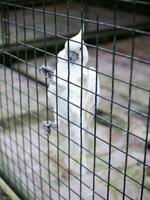
M 60 121 L 62 117 L 66 119 L 68 118 L 68 106 L 69 106 L 69 119 L 72 122 L 76 121 L 78 126 L 80 125 L 80 115 L 81 115 L 80 110 L 82 106 L 83 109 L 82 121 L 84 126 L 86 126 L 88 121 L 92 120 L 92 114 L 94 115 L 94 110 L 95 110 L 95 94 L 94 94 L 96 91 L 95 69 L 84 68 L 83 73 L 81 75 L 81 68 L 79 66 L 75 66 L 75 64 L 74 65 L 71 64 L 69 66 L 70 76 L 68 79 L 68 63 L 59 62 L 57 67 L 58 67 L 57 75 L 56 71 L 54 73 L 54 75 L 57 76 L 57 91 L 56 91 L 56 85 L 49 86 L 50 104 L 55 111 L 56 107 L 58 106 L 57 112 Z M 98 86 L 97 94 L 99 94 L 99 79 L 97 79 L 97 86 Z M 57 92 L 57 97 L 56 97 L 56 92 Z

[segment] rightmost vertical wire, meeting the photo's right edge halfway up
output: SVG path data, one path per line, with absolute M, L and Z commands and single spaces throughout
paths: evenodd
M 149 92 L 149 102 L 148 102 L 148 113 L 147 113 L 147 126 L 146 126 L 146 137 L 145 137 L 145 146 L 144 146 L 144 159 L 143 159 L 143 176 L 142 176 L 142 186 L 141 186 L 141 197 L 143 199 L 144 192 L 144 183 L 145 183 L 145 164 L 147 158 L 147 143 L 148 143 L 148 134 L 149 134 L 149 125 L 150 125 L 150 92 Z

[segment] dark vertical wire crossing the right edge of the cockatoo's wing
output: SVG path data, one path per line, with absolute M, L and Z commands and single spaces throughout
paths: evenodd
M 96 69 L 95 69 L 95 110 L 94 110 L 94 151 L 93 151 L 93 155 L 94 155 L 94 161 L 93 161 L 93 196 L 92 196 L 92 200 L 95 199 L 95 171 L 96 171 L 96 120 L 97 120 L 97 116 L 96 116 L 96 111 L 97 111 L 97 91 L 98 91 L 98 87 L 100 87 L 100 85 L 98 85 L 98 45 L 99 45 L 99 16 L 97 15 L 97 19 L 96 19 Z

